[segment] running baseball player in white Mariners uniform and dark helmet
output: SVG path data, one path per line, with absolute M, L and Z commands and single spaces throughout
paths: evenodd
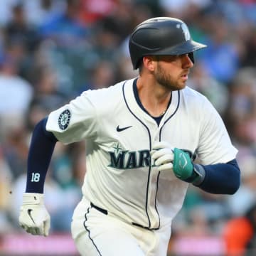
M 80 255 L 166 255 L 189 183 L 209 193 L 238 190 L 238 150 L 206 97 L 186 87 L 193 52 L 204 47 L 179 19 L 146 20 L 129 38 L 137 78 L 82 92 L 36 125 L 19 216 L 26 232 L 49 233 L 43 183 L 57 141 L 86 141 L 71 224 Z

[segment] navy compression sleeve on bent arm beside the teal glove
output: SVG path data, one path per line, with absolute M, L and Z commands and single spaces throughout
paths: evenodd
M 203 166 L 205 177 L 198 185 L 208 193 L 234 194 L 240 186 L 240 169 L 238 162 L 233 159 L 227 164 L 210 164 Z

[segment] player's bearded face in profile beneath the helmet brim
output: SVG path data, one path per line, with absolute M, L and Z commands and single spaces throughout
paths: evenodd
M 156 82 L 169 90 L 181 90 L 186 86 L 188 73 L 193 62 L 188 54 L 159 56 L 154 76 Z

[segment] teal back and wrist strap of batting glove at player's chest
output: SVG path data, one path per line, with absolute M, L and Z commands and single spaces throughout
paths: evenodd
M 199 164 L 193 164 L 188 153 L 181 149 L 174 149 L 173 161 L 174 174 L 183 181 L 193 183 L 198 186 L 203 182 L 205 170 Z

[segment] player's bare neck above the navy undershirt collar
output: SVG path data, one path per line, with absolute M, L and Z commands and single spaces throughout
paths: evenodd
M 159 117 L 166 112 L 171 99 L 170 91 L 154 85 L 150 80 L 144 81 L 143 78 L 137 80 L 137 90 L 139 100 L 151 116 Z

